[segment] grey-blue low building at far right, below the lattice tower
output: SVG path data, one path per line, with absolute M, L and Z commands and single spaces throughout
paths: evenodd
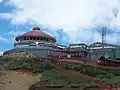
M 115 59 L 115 50 L 119 47 L 117 45 L 96 42 L 90 45 L 89 56 L 90 59 L 99 59 L 104 56 L 107 59 Z

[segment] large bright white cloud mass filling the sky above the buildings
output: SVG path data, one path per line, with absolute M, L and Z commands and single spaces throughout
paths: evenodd
M 16 11 L 3 16 L 11 18 L 12 24 L 39 24 L 53 32 L 62 28 L 70 43 L 100 41 L 99 32 L 92 30 L 97 25 L 120 28 L 120 0 L 10 0 L 9 3 Z M 114 42 L 111 36 L 107 38 L 109 43 Z

